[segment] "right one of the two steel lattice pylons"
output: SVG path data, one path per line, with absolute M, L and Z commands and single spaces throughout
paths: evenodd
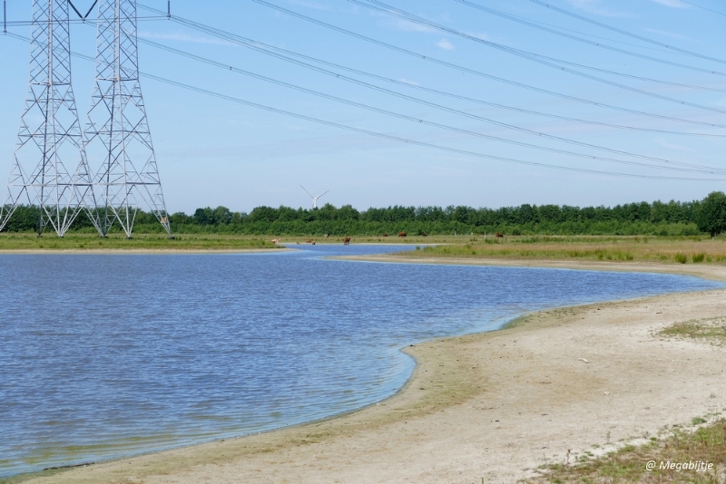
M 144 202 L 172 235 L 139 82 L 136 0 L 98 5 L 96 79 L 84 130 L 95 197 L 89 215 L 103 237 L 118 221 L 131 237 Z

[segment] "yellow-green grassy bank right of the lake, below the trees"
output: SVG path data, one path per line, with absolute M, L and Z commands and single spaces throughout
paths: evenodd
M 456 257 L 672 264 L 726 263 L 726 238 L 694 237 L 466 237 L 419 247 L 399 257 Z

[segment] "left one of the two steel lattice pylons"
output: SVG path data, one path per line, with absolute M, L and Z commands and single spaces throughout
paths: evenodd
M 50 225 L 63 237 L 91 192 L 71 86 L 67 0 L 34 0 L 31 25 L 30 83 L 0 230 L 27 203 L 40 208 L 38 236 Z M 73 176 L 67 166 L 77 167 Z

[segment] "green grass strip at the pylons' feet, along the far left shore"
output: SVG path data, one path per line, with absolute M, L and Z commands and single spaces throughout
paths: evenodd
M 138 234 L 132 239 L 123 235 L 108 238 L 97 234 L 71 234 L 64 238 L 48 234 L 0 234 L 0 251 L 27 250 L 256 250 L 275 248 L 268 237 L 239 237 L 220 235 L 182 235 L 170 240 L 162 234 Z

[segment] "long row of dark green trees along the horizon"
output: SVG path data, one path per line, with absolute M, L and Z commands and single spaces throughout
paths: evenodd
M 711 207 L 712 206 L 712 207 Z M 715 210 L 715 211 L 714 211 Z M 720 218 L 711 225 L 705 218 Z M 33 231 L 38 208 L 19 207 L 6 231 Z M 388 207 L 358 211 L 349 205 L 336 208 L 258 207 L 249 214 L 226 207 L 198 208 L 193 215 L 170 216 L 172 231 L 265 236 L 375 236 L 399 231 L 408 235 L 454 235 L 502 232 L 507 235 L 715 235 L 726 228 L 726 195 L 714 192 L 702 201 L 630 203 L 616 207 L 522 205 L 505 208 Z M 716 227 L 715 229 L 713 227 Z M 92 232 L 80 215 L 72 231 Z M 162 232 L 156 219 L 140 211 L 134 231 Z

